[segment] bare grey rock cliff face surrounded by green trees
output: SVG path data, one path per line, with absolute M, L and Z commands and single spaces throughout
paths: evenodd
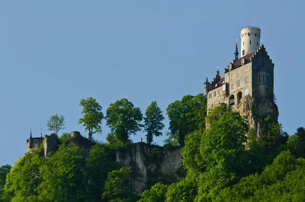
M 144 142 L 116 152 L 119 166 L 132 168 L 132 184 L 137 195 L 157 181 L 174 183 L 184 177 L 181 160 L 181 148 L 149 146 Z

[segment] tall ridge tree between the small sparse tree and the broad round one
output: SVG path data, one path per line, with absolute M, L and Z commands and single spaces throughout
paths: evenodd
M 79 119 L 78 124 L 85 126 L 85 131 L 89 131 L 88 137 L 91 140 L 94 133 L 102 132 L 100 126 L 104 119 L 102 107 L 92 97 L 88 97 L 86 100 L 82 99 L 79 105 L 83 107 L 81 114 L 84 114 L 84 117 Z

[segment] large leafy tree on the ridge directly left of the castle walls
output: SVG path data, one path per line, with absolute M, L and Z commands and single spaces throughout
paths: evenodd
M 171 133 L 177 134 L 179 144 L 184 146 L 187 134 L 205 128 L 206 95 L 186 95 L 169 104 L 166 113 Z

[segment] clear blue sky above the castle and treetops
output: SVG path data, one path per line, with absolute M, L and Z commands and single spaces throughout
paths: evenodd
M 153 100 L 165 111 L 203 93 L 205 75 L 219 66 L 223 76 L 234 58 L 249 8 L 275 63 L 279 122 L 291 135 L 305 126 L 303 1 L 1 1 L 0 165 L 23 156 L 31 128 L 50 134 L 52 114 L 66 118 L 59 134 L 85 135 L 81 99 L 96 98 L 105 114 L 127 98 L 144 113 Z M 105 141 L 105 121 L 102 129 L 94 138 Z

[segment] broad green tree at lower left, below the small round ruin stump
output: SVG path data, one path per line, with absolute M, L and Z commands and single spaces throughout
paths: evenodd
M 41 167 L 42 183 L 36 189 L 41 201 L 92 201 L 84 176 L 86 161 L 83 149 L 60 145 Z M 25 201 L 25 200 L 24 200 Z

